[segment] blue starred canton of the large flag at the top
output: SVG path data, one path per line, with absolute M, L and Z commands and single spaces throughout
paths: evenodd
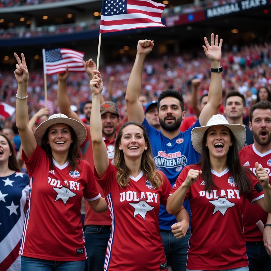
M 112 16 L 127 13 L 127 0 L 105 0 L 102 2 L 102 15 Z

